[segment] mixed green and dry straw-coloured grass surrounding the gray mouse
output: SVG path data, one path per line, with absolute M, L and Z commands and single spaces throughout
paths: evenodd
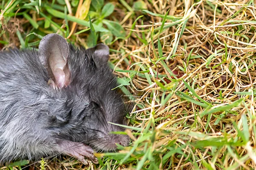
M 135 101 L 129 147 L 99 154 L 99 165 L 62 156 L 35 169 L 256 169 L 253 0 L 2 0 L 0 8 L 1 48 L 36 47 L 53 32 L 85 47 L 104 42 Z

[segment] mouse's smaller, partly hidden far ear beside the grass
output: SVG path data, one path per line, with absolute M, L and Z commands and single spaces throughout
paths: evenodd
M 96 64 L 104 64 L 108 62 L 109 48 L 107 45 L 97 44 L 93 48 L 88 48 L 87 51 L 91 51 L 93 54 L 93 60 L 96 62 Z

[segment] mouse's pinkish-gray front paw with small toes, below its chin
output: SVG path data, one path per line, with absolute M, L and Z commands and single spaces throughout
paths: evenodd
M 69 156 L 74 156 L 83 164 L 87 164 L 87 161 L 84 159 L 84 157 L 89 158 L 95 164 L 99 163 L 98 159 L 93 155 L 93 149 L 83 143 L 61 140 L 58 141 L 57 144 L 58 152 Z

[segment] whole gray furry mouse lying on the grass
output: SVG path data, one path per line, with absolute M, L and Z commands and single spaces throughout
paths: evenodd
M 76 48 L 58 34 L 38 50 L 0 52 L 0 163 L 64 154 L 86 163 L 93 150 L 127 146 L 128 107 L 108 66 L 109 48 Z

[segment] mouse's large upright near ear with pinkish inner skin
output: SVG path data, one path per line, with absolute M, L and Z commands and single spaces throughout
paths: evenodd
M 63 88 L 70 84 L 68 54 L 67 41 L 58 34 L 48 34 L 40 41 L 39 58 L 48 71 L 52 88 Z

